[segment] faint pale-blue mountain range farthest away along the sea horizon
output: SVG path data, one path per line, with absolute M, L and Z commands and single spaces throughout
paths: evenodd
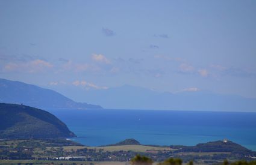
M 67 93 L 66 93 L 67 94 Z M 256 112 L 256 99 L 208 91 L 156 92 L 136 86 L 69 92 L 69 97 L 100 104 L 105 109 L 156 109 Z M 78 98 L 79 97 L 79 98 Z

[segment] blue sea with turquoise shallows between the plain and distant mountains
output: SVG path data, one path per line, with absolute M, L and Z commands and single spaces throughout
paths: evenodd
M 256 151 L 256 113 L 173 110 L 48 110 L 87 146 L 134 138 L 145 145 L 196 145 L 228 139 Z

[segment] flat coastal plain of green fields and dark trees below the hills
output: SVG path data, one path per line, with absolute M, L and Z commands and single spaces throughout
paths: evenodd
M 254 152 L 249 155 L 233 152 L 180 152 L 181 149 L 153 149 L 154 147 L 136 151 L 125 150 L 125 147 L 118 146 L 118 149 L 110 151 L 108 148 L 113 148 L 113 146 L 89 147 L 66 139 L 0 140 L 0 160 L 120 161 L 127 163 L 138 154 L 154 162 L 160 162 L 161 165 L 180 164 L 181 161 L 177 158 L 183 160 L 184 164 L 190 165 L 193 164 L 192 160 L 195 164 L 222 164 L 223 160 L 228 160 L 231 164 L 237 160 L 255 160 Z M 137 147 L 145 146 L 137 145 Z M 143 156 L 137 157 L 134 163 L 136 160 L 146 160 Z

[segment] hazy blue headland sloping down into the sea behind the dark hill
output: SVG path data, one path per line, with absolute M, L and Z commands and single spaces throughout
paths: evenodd
M 102 109 L 101 106 L 76 103 L 50 89 L 5 79 L 0 79 L 0 103 L 22 103 L 42 109 Z

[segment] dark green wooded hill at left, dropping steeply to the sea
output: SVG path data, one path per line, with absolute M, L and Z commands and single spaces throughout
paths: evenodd
M 0 139 L 73 137 L 66 124 L 45 110 L 0 103 Z

